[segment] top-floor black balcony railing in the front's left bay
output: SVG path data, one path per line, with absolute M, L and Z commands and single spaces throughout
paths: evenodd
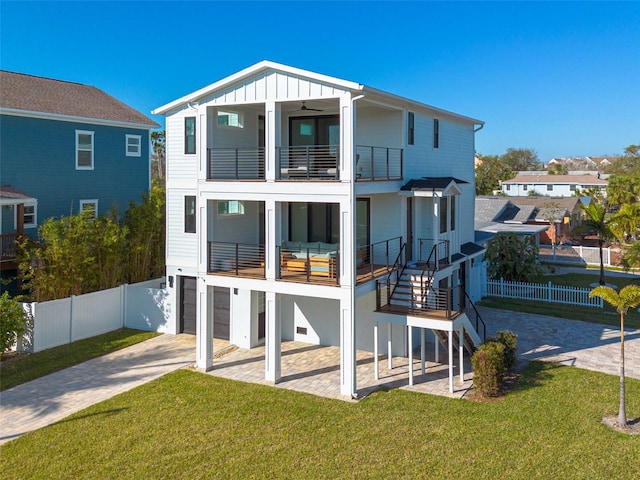
M 264 180 L 264 148 L 209 148 L 208 180 Z

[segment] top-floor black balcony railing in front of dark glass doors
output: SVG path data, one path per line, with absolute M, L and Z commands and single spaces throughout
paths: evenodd
M 340 146 L 307 145 L 278 149 L 280 180 L 339 180 Z

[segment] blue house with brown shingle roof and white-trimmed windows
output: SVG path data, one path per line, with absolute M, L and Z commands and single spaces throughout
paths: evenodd
M 158 127 L 95 87 L 0 70 L 0 270 L 46 218 L 140 200 Z

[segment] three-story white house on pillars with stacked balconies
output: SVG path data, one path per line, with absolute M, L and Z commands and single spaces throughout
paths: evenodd
M 356 350 L 411 355 L 418 328 L 448 347 L 453 390 L 454 344 L 479 341 L 462 307 L 479 290 L 483 122 L 268 61 L 154 113 L 171 331 L 197 335 L 198 368 L 215 368 L 213 337 L 264 342 L 270 382 L 282 341 L 339 346 L 340 391 L 356 396 Z

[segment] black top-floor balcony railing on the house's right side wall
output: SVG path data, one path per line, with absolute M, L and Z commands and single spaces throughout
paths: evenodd
M 355 178 L 363 180 L 400 180 L 404 151 L 401 148 L 356 146 Z

